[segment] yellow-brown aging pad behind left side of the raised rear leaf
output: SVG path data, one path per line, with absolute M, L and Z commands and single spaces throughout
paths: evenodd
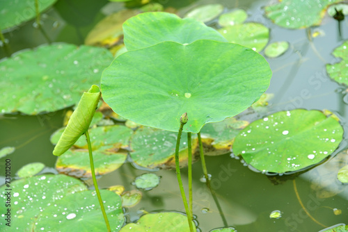
M 122 24 L 138 13 L 138 10 L 120 10 L 106 16 L 88 33 L 85 44 L 113 47 L 122 43 Z

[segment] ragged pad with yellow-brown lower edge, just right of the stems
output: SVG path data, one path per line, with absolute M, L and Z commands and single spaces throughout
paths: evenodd
M 222 122 L 205 124 L 200 131 L 202 142 L 205 147 L 208 147 L 205 155 L 217 156 L 230 152 L 235 137 L 248 124 L 249 122 L 239 121 L 234 117 L 227 118 Z

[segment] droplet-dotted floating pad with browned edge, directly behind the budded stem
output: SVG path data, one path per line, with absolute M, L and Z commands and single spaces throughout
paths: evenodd
M 132 135 L 130 156 L 136 165 L 150 169 L 175 167 L 175 145 L 177 134 L 150 127 L 142 127 Z M 192 140 L 192 154 L 198 147 L 198 140 Z M 180 166 L 187 165 L 187 136 L 180 141 Z

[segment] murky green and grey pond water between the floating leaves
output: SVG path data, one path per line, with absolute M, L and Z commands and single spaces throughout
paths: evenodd
M 255 113 L 250 116 L 251 118 L 258 119 L 280 110 L 294 108 L 328 109 L 340 117 L 340 122 L 347 131 L 346 88 L 331 81 L 325 67 L 328 63 L 340 61 L 331 53 L 348 38 L 347 19 L 342 22 L 342 39 L 338 35 L 337 21 L 328 15 L 324 17 L 322 25 L 311 28 L 312 31 L 280 28 L 263 15 L 263 7 L 267 6 L 269 1 L 206 0 L 193 2 L 189 6 L 188 1 L 177 2 L 176 6 L 184 6 L 180 10 L 182 14 L 194 6 L 206 3 L 221 3 L 226 7 L 226 11 L 236 7 L 242 8 L 248 13 L 247 22 L 260 22 L 270 28 L 269 42 L 283 40 L 290 42 L 290 49 L 283 56 L 267 58 L 273 72 L 267 93 L 273 93 L 275 96 L 269 101 L 267 112 Z M 171 1 L 163 3 L 170 5 Z M 95 22 L 98 20 L 100 15 L 97 15 Z M 52 24 L 55 22 L 58 26 L 52 30 Z M 81 28 L 82 37 L 95 22 Z M 60 34 L 64 25 L 63 19 L 54 10 L 49 10 L 45 27 L 52 30 L 50 33 L 52 38 L 57 38 L 56 41 L 80 44 L 77 35 Z M 324 31 L 324 36 L 310 41 L 308 33 L 314 30 Z M 68 32 L 68 29 L 66 31 Z M 10 40 L 10 46 L 14 51 L 45 43 L 45 39 L 35 31 L 31 22 L 6 34 L 6 37 Z M 1 52 L 0 57 L 3 57 L 4 54 Z M 263 51 L 260 53 L 264 55 Z M 47 168 L 43 172 L 56 172 L 54 169 L 56 157 L 52 155 L 54 146 L 49 142 L 49 138 L 56 129 L 61 128 L 66 111 L 59 110 L 37 116 L 19 114 L 0 116 L 0 148 L 7 146 L 16 148 L 13 154 L 6 156 L 13 160 L 13 173 L 23 165 L 33 162 L 44 163 Z M 232 154 L 207 156 L 207 169 L 212 175 L 212 188 L 219 199 L 227 225 L 224 224 L 205 183 L 200 181 L 203 176 L 200 162 L 194 163 L 193 212 L 199 229 L 210 231 L 214 228 L 233 226 L 237 231 L 320 231 L 325 228 L 324 226 L 348 224 L 348 187 L 337 181 L 335 174 L 338 164 L 347 163 L 345 149 L 347 141 L 344 139 L 333 156 L 323 165 L 301 174 L 283 176 L 267 176 L 255 172 L 253 168 L 246 167 L 240 159 L 233 158 Z M 0 165 L 4 166 L 4 159 L 0 159 Z M 100 188 L 124 185 L 126 190 L 136 189 L 132 182 L 136 176 L 146 172 L 149 171 L 135 169 L 131 163 L 127 163 L 115 172 L 102 176 L 99 180 Z M 150 191 L 142 191 L 141 202 L 126 210 L 127 222 L 136 221 L 141 215 L 141 210 L 184 212 L 175 171 L 159 170 L 155 173 L 161 176 L 159 186 Z M 186 173 L 187 169 L 183 168 L 184 186 L 187 186 Z M 3 176 L 0 181 L 4 182 Z M 281 212 L 280 218 L 269 217 L 274 210 Z M 338 214 L 338 210 L 342 210 L 342 213 Z

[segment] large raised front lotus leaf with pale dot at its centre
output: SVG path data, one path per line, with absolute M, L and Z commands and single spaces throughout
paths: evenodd
M 198 133 L 207 122 L 241 113 L 267 90 L 269 64 L 246 47 L 212 40 L 162 42 L 127 51 L 102 75 L 102 94 L 113 111 L 138 124 Z

